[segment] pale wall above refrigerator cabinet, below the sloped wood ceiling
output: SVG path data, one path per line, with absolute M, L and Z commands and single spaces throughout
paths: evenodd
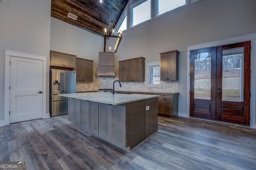
M 103 31 L 102 31 L 103 32 Z M 103 37 L 51 17 L 50 49 L 98 63 Z

